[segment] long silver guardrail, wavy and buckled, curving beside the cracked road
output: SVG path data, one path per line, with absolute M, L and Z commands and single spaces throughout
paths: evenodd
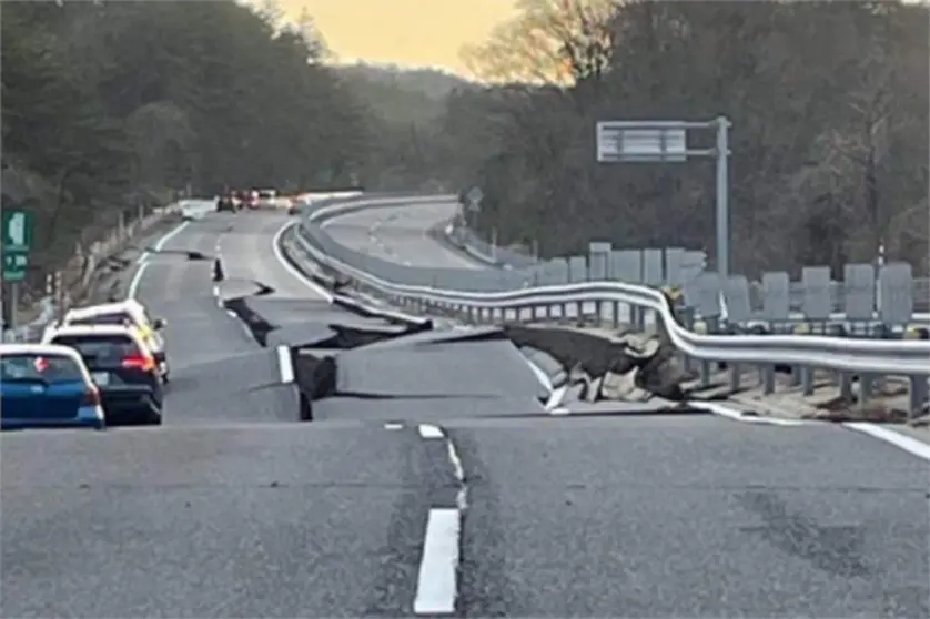
M 473 323 L 497 322 L 507 313 L 517 318 L 548 315 L 569 304 L 626 305 L 653 312 L 671 343 L 689 357 L 708 365 L 729 364 L 731 380 L 741 376 L 740 365 L 759 366 L 766 393 L 775 390 L 775 366 L 796 367 L 805 393 L 812 392 L 816 368 L 835 371 L 841 392 L 851 396 L 855 377 L 860 402 L 881 376 L 910 379 L 910 408 L 917 414 L 927 398 L 930 375 L 930 341 L 887 341 L 819 335 L 700 335 L 680 325 L 666 295 L 657 288 L 621 282 L 579 282 L 536 285 L 534 268 L 479 271 L 417 268 L 383 261 L 340 245 L 320 224 L 326 219 L 378 206 L 415 205 L 454 200 L 455 196 L 371 197 L 330 201 L 305 213 L 295 239 L 315 261 L 348 275 L 354 283 L 404 306 L 427 312 L 442 308 Z

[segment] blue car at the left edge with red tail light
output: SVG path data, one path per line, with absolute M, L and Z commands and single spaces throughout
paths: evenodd
M 0 344 L 2 429 L 105 426 L 100 390 L 68 346 Z

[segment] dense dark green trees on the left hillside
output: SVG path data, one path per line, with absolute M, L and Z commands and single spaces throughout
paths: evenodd
M 364 172 L 378 133 L 309 30 L 233 2 L 3 2 L 3 206 L 51 266 L 183 187 L 299 189 Z

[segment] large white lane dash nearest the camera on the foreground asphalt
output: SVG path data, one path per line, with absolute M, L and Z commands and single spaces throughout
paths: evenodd
M 462 515 L 457 509 L 431 509 L 413 611 L 417 615 L 455 612 L 458 589 L 458 536 Z

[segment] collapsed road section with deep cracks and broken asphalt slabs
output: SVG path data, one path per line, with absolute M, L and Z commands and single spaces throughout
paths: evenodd
M 314 280 L 342 310 L 333 316 L 338 322 L 270 319 L 286 313 L 287 302 L 267 298 L 273 290 L 260 282 L 223 301 L 261 346 L 287 347 L 303 420 L 705 414 L 684 404 L 680 385 L 689 376 L 661 334 L 435 329 L 432 319 L 363 304 L 336 278 Z

